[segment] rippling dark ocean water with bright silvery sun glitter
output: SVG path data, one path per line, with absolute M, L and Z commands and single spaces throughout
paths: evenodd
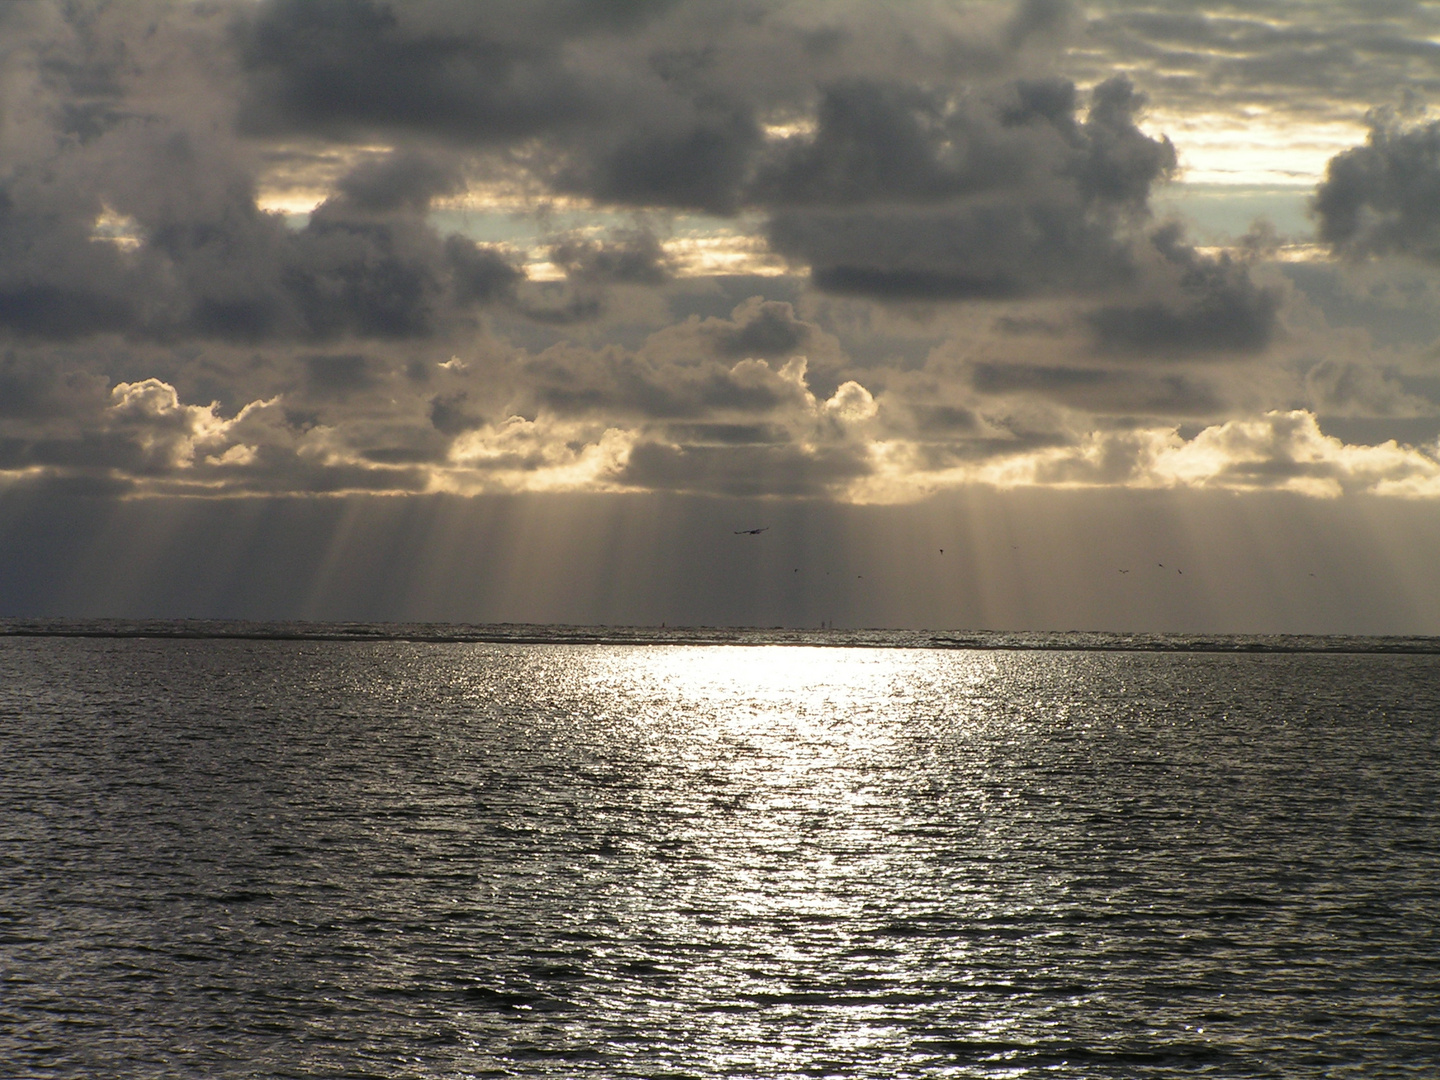
M 1424 642 L 10 629 L 4 1077 L 1440 1074 Z

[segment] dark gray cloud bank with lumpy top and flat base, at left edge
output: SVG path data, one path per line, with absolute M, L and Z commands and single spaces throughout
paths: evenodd
M 297 230 L 261 212 L 251 181 L 219 171 L 192 135 L 144 141 L 137 176 L 117 177 L 104 199 L 104 183 L 45 187 L 24 170 L 0 180 L 0 328 L 50 340 L 415 338 L 523 276 L 498 251 L 442 240 L 423 220 L 452 183 L 423 160 L 357 168 Z M 194 199 L 174 197 L 186 187 Z M 132 219 L 134 251 L 95 236 L 105 206 Z

